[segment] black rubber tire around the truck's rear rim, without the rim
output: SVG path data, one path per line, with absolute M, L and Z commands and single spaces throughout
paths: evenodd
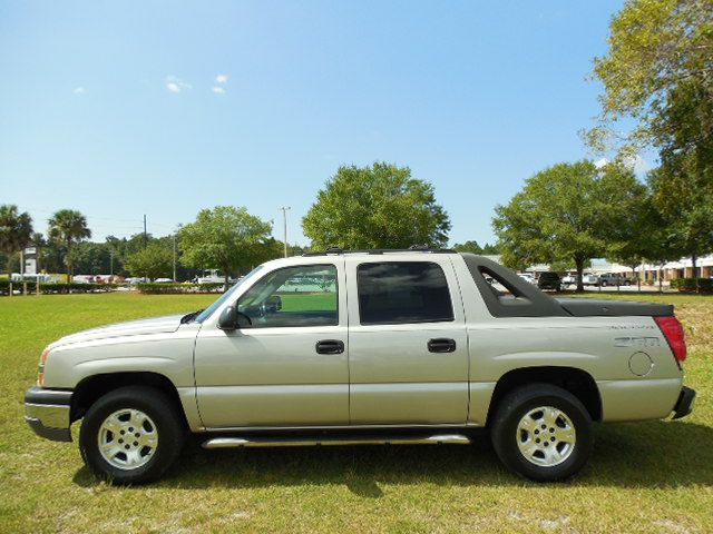
M 554 407 L 564 413 L 576 433 L 575 443 L 566 459 L 557 465 L 545 466 L 534 463 L 520 452 L 518 444 L 518 439 L 524 439 L 524 434 L 518 434 L 520 421 L 531 411 L 544 406 Z M 508 393 L 496 406 L 496 413 L 489 426 L 492 446 L 500 461 L 519 475 L 536 482 L 561 481 L 570 477 L 587 462 L 594 445 L 592 417 L 587 408 L 572 393 L 551 384 L 531 384 Z M 536 426 L 537 432 L 541 432 L 543 435 L 553 432 L 549 428 L 543 431 L 539 425 Z M 550 436 L 550 434 L 546 435 Z M 533 434 L 534 437 L 536 436 Z M 539 447 L 539 445 L 536 446 Z M 560 447 L 560 443 L 555 443 L 555 446 Z M 567 447 L 566 444 L 563 446 Z

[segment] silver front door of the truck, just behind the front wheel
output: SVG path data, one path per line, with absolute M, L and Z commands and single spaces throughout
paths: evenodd
M 338 288 L 343 288 L 343 263 L 336 260 L 334 265 Z M 261 278 L 262 284 L 270 275 Z M 314 281 L 303 278 L 306 279 L 303 284 Z M 290 291 L 282 291 L 284 284 L 280 286 L 282 298 L 277 304 L 275 291 L 271 287 L 261 289 L 261 280 L 244 293 L 245 306 L 250 308 L 243 309 L 253 314 L 253 327 L 221 330 L 206 324 L 196 338 L 195 377 L 204 426 L 349 424 L 345 291 L 335 290 L 334 325 L 272 326 L 290 324 L 293 319 L 301 325 L 331 322 L 329 313 L 319 309 L 319 303 L 330 300 L 324 295 L 330 289 L 325 289 L 323 280 L 319 289 L 311 287 L 306 301 L 316 308 L 305 310 L 310 304 L 295 305 L 300 288 L 295 288 L 294 283 Z M 251 289 L 255 290 L 251 294 Z M 320 342 L 331 342 L 328 348 L 332 350 L 318 352 Z M 340 343 L 343 344 L 341 352 L 334 349 Z

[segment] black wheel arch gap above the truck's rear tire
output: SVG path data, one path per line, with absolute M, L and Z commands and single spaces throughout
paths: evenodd
M 534 383 L 553 384 L 568 390 L 584 404 L 592 421 L 602 421 L 602 396 L 589 373 L 577 367 L 535 366 L 509 370 L 498 379 L 490 399 L 486 424 L 490 424 L 496 407 L 505 395 L 520 386 Z

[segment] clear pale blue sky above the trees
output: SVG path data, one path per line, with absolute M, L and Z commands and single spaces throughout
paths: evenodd
M 0 1 L 0 204 L 95 238 L 246 206 L 289 240 L 340 164 L 409 166 L 451 241 L 590 156 L 585 78 L 619 1 Z

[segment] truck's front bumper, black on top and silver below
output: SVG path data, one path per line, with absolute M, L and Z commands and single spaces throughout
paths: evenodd
M 71 393 L 43 387 L 31 387 L 25 393 L 25 421 L 38 436 L 71 442 Z

